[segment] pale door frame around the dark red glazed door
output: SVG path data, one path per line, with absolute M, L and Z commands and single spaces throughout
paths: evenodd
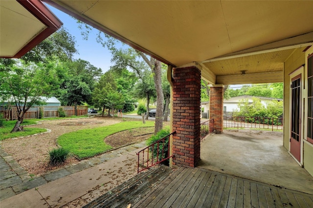
M 303 102 L 303 97 L 304 97 L 304 67 L 303 66 L 300 66 L 297 70 L 293 71 L 290 76 L 289 76 L 289 87 L 291 85 L 291 80 L 298 76 L 299 74 L 301 74 L 301 125 L 300 125 L 300 161 L 298 161 L 292 154 L 291 154 L 291 99 L 292 99 L 292 96 L 291 96 L 291 93 L 292 93 L 292 90 L 290 89 L 289 90 L 289 109 L 290 109 L 290 113 L 289 113 L 289 150 L 288 152 L 290 153 L 290 155 L 292 156 L 292 158 L 300 165 L 303 167 L 303 140 L 304 140 L 304 129 L 303 129 L 303 124 L 304 124 L 304 102 Z

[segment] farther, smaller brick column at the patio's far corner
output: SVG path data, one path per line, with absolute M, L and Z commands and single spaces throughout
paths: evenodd
M 210 87 L 210 119 L 214 119 L 215 133 L 223 133 L 224 86 Z

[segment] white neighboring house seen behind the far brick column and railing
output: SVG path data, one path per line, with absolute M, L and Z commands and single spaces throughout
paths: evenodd
M 224 99 L 223 101 L 223 111 L 224 111 L 224 116 L 232 116 L 234 111 L 240 111 L 238 108 L 238 103 L 244 99 L 248 100 L 248 104 L 252 105 L 253 100 L 252 98 L 259 98 L 261 100 L 261 103 L 266 107 L 268 101 L 283 101 L 283 99 L 278 99 L 278 98 L 267 98 L 267 97 L 257 97 L 257 96 L 250 96 L 250 95 L 244 95 L 244 96 L 238 96 L 238 97 L 233 97 L 229 99 Z M 203 116 L 203 113 L 208 113 L 210 109 L 210 102 L 202 102 L 201 103 L 201 108 L 202 108 L 202 118 L 206 118 Z

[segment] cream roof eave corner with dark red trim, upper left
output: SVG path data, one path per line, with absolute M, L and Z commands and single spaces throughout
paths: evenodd
M 40 0 L 1 0 L 0 57 L 20 58 L 62 24 Z

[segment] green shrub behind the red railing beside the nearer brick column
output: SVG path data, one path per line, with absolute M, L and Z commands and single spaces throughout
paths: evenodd
M 160 140 L 169 134 L 170 134 L 169 130 L 162 129 L 159 132 L 157 132 L 156 135 L 153 135 L 150 139 L 148 139 L 146 143 L 148 146 L 150 146 L 153 143 L 155 143 L 157 140 Z M 169 140 L 169 138 L 167 137 L 164 139 L 164 142 L 160 142 L 158 144 L 158 149 L 157 149 L 157 144 L 155 144 L 153 147 L 150 147 L 149 150 L 153 153 L 153 158 L 155 158 L 157 156 L 157 153 L 158 153 L 158 161 L 163 160 L 164 158 L 167 157 L 167 155 L 168 155 L 168 140 Z M 164 146 L 164 150 L 163 150 L 163 146 Z M 169 161 L 164 161 L 161 164 L 168 166 Z

